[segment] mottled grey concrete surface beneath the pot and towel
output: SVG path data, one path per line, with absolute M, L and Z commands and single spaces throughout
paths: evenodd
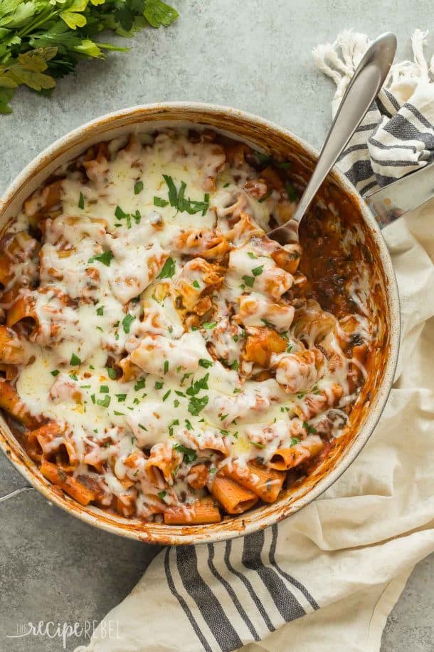
M 310 51 L 353 27 L 390 29 L 408 55 L 414 28 L 433 24 L 431 0 L 173 0 L 178 23 L 146 31 L 128 54 L 83 63 L 47 100 L 17 93 L 0 118 L 0 191 L 42 148 L 110 110 L 159 100 L 238 106 L 319 145 L 332 84 Z M 433 38 L 431 38 L 433 46 Z M 0 495 L 23 480 L 0 456 Z M 0 503 L 0 652 L 57 652 L 58 639 L 16 634 L 28 621 L 100 619 L 132 589 L 156 549 L 91 529 L 36 492 Z M 418 564 L 388 619 L 382 652 L 434 650 L 434 556 Z M 67 649 L 78 643 L 71 638 Z

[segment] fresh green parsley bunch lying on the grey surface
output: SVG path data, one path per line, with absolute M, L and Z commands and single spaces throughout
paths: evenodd
M 18 86 L 51 95 L 80 59 L 127 51 L 95 40 L 102 30 L 129 37 L 177 17 L 162 0 L 0 0 L 0 113 Z

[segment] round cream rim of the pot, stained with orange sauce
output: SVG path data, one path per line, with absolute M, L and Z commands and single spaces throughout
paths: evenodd
M 78 143 L 78 140 L 84 140 L 86 136 L 90 135 L 93 129 L 100 128 L 103 125 L 106 125 L 107 130 L 110 130 L 115 126 L 115 122 L 122 118 L 127 118 L 129 116 L 137 115 L 137 120 L 132 121 L 132 128 L 134 125 L 140 123 L 140 115 L 147 115 L 154 113 L 154 121 L 159 120 L 159 115 L 164 115 L 164 113 L 170 113 L 171 111 L 176 110 L 189 110 L 195 113 L 198 113 L 201 118 L 201 124 L 206 125 L 206 115 L 221 115 L 222 117 L 236 116 L 241 120 L 244 120 L 250 125 L 258 125 L 265 130 L 270 130 L 274 132 L 277 136 L 283 136 L 285 138 L 290 138 L 294 143 L 300 146 L 307 155 L 318 157 L 318 151 L 315 148 L 312 148 L 309 143 L 306 143 L 305 140 L 294 135 L 290 130 L 277 125 L 276 123 L 267 120 L 266 118 L 261 118 L 258 115 L 253 113 L 248 113 L 246 111 L 231 108 L 224 105 L 215 105 L 211 103 L 201 103 L 201 102 L 164 102 L 164 103 L 152 103 L 144 105 L 135 105 L 129 108 L 124 108 L 121 110 L 112 111 L 105 115 L 102 115 L 98 118 L 90 120 L 88 123 L 80 125 L 78 128 L 68 132 L 67 134 L 61 136 L 54 141 L 51 145 L 43 150 L 40 154 L 31 160 L 31 162 L 23 168 L 23 170 L 15 177 L 14 181 L 11 182 L 9 187 L 6 188 L 3 195 L 0 197 L 0 216 L 3 214 L 4 210 L 9 206 L 9 204 L 14 200 L 14 197 L 21 192 L 23 185 L 29 178 L 33 175 L 33 172 L 41 169 L 42 167 L 47 167 L 47 165 L 58 155 L 62 150 L 68 150 L 73 145 Z M 174 118 L 174 122 L 182 123 L 180 118 Z M 188 119 L 186 119 L 188 122 Z M 150 124 L 144 123 L 144 124 Z M 228 133 L 231 133 L 231 128 L 228 128 Z M 235 135 L 235 131 L 234 131 Z M 103 136 L 103 134 L 102 134 Z M 257 532 L 264 527 L 268 527 L 276 522 L 279 522 L 282 519 L 290 516 L 290 514 L 295 514 L 302 507 L 305 507 L 307 504 L 315 500 L 319 495 L 322 495 L 324 491 L 329 489 L 334 482 L 336 482 L 339 477 L 344 473 L 344 471 L 351 465 L 355 460 L 357 455 L 361 452 L 366 442 L 369 440 L 371 434 L 374 432 L 374 428 L 379 421 L 383 408 L 386 405 L 386 400 L 391 390 L 393 383 L 393 376 L 396 371 L 396 365 L 398 361 L 398 349 L 399 349 L 399 339 L 400 339 L 400 310 L 399 310 L 399 299 L 398 299 L 398 286 L 396 283 L 396 276 L 393 270 L 393 265 L 391 262 L 391 257 L 386 246 L 386 242 L 381 235 L 381 230 L 379 224 L 377 224 L 376 219 L 374 219 L 373 214 L 369 210 L 369 207 L 364 202 L 359 192 L 356 191 L 353 185 L 349 182 L 343 172 L 341 172 L 335 165 L 332 168 L 332 171 L 329 173 L 329 176 L 334 177 L 335 180 L 339 183 L 339 186 L 344 190 L 346 195 L 351 195 L 354 200 L 356 200 L 357 208 L 361 213 L 361 217 L 366 222 L 367 226 L 371 231 L 371 236 L 374 240 L 374 244 L 379 252 L 381 263 L 383 266 L 383 274 L 386 279 L 385 294 L 388 304 L 389 311 L 389 338 L 390 338 L 390 356 L 386 363 L 386 368 L 384 370 L 383 379 L 381 385 L 376 392 L 375 403 L 372 405 L 369 414 L 367 415 L 365 423 L 361 426 L 359 433 L 356 438 L 349 445 L 349 449 L 342 455 L 340 460 L 337 462 L 336 466 L 329 472 L 327 475 L 322 477 L 317 485 L 314 485 L 306 495 L 295 499 L 293 504 L 289 499 L 283 499 L 281 502 L 275 502 L 271 505 L 266 505 L 260 509 L 253 510 L 253 512 L 248 512 L 247 514 L 241 514 L 235 519 L 230 519 L 228 521 L 222 521 L 221 523 L 212 525 L 212 526 L 166 526 L 164 524 L 149 524 L 153 527 L 147 527 L 147 524 L 137 524 L 137 522 L 132 522 L 132 526 L 136 527 L 125 527 L 125 519 L 117 519 L 116 517 L 107 518 L 105 512 L 100 509 L 92 508 L 86 511 L 83 508 L 80 508 L 78 504 L 72 501 L 69 497 L 59 497 L 53 490 L 51 490 L 51 485 L 47 485 L 46 481 L 43 479 L 41 474 L 38 472 L 38 468 L 33 462 L 29 462 L 27 459 L 23 458 L 21 452 L 21 445 L 16 442 L 15 438 L 7 433 L 4 433 L 0 428 L 0 447 L 6 454 L 6 457 L 12 462 L 16 470 L 23 475 L 23 477 L 28 480 L 28 482 L 33 485 L 33 487 L 38 490 L 42 495 L 44 495 L 50 502 L 55 503 L 58 507 L 65 509 L 65 511 L 73 514 L 75 517 L 78 517 L 88 524 L 95 525 L 101 529 L 105 529 L 107 532 L 112 534 L 118 534 L 123 537 L 128 537 L 131 539 L 141 540 L 148 543 L 155 544 L 198 544 L 198 543 L 211 543 L 223 541 L 226 539 L 232 539 L 234 537 L 244 536 L 245 534 L 251 534 Z M 274 509 L 272 509 L 274 507 Z M 234 527 L 234 523 L 238 524 L 238 527 Z M 158 527 L 157 527 L 158 526 Z

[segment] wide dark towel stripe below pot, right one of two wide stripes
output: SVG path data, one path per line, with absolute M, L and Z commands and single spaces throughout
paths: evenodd
M 282 619 L 289 623 L 305 616 L 306 611 L 301 606 L 294 594 L 287 589 L 285 582 L 280 579 L 277 572 L 269 566 L 264 566 L 260 559 L 263 549 L 265 534 L 263 531 L 248 534 L 244 537 L 243 564 L 246 568 L 256 571 L 265 584 Z

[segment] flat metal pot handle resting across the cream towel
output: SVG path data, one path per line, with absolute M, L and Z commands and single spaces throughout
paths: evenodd
M 434 162 L 376 190 L 365 201 L 382 229 L 434 197 Z

